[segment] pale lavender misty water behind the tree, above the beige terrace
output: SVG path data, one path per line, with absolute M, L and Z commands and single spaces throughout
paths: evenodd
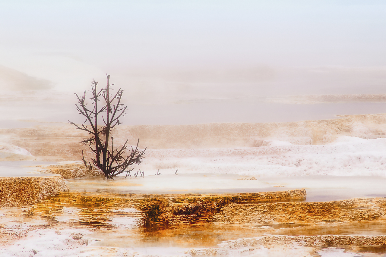
M 78 92 L 80 93 L 80 92 Z M 381 99 L 366 99 L 346 102 L 346 95 L 334 97 L 331 102 L 322 100 L 306 101 L 307 96 L 288 97 L 209 97 L 181 100 L 180 96 L 155 103 L 155 99 L 135 102 L 125 100 L 127 115 L 122 118 L 124 125 L 183 125 L 212 122 L 294 122 L 300 120 L 321 120 L 336 118 L 335 115 L 354 115 L 386 112 L 386 103 Z M 349 95 L 350 96 L 350 95 Z M 361 95 L 353 95 L 361 96 Z M 378 95 L 369 95 L 378 96 Z M 201 97 L 201 98 L 200 98 Z M 305 99 L 303 99 L 305 98 Z M 342 99 L 341 99 L 342 98 Z M 54 125 L 68 120 L 81 123 L 83 118 L 74 109 L 76 98 L 73 92 L 26 91 L 5 92 L 0 96 L 0 128 L 31 127 L 34 125 Z M 135 103 L 132 103 L 132 102 Z M 342 102 L 343 101 L 343 102 Z M 373 102 L 371 102 L 373 101 Z M 377 102 L 380 101 L 380 102 Z M 307 104 L 310 103 L 311 104 Z M 44 103 L 44 104 L 42 104 Z M 12 109 L 10 109 L 12 105 Z M 138 112 L 140 108 L 141 112 Z

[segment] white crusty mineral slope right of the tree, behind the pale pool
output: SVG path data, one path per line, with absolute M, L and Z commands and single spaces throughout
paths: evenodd
M 386 176 L 386 139 L 339 137 L 327 145 L 149 150 L 146 174 L 222 173 L 249 176 Z

